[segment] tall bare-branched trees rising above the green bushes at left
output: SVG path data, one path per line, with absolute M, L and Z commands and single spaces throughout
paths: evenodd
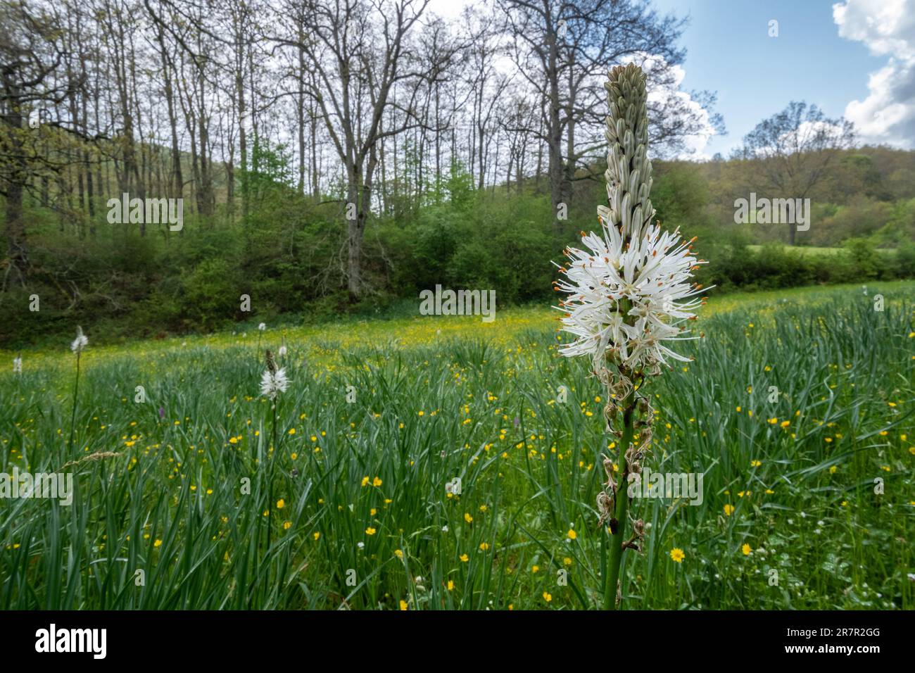
M 661 89 L 683 58 L 682 21 L 630 0 L 497 0 L 450 23 L 425 0 L 7 0 L 3 23 L 6 124 L 37 111 L 70 133 L 12 138 L 16 188 L 90 235 L 115 191 L 247 224 L 252 174 L 274 177 L 282 159 L 296 193 L 354 204 L 354 297 L 370 213 L 421 206 L 457 164 L 477 189 L 543 176 L 565 202 L 601 144 L 608 66 L 651 58 Z M 652 127 L 668 150 L 708 123 L 678 101 Z M 18 280 L 27 237 L 13 217 Z

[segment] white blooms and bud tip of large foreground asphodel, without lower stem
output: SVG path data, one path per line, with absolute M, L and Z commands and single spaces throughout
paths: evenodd
M 559 349 L 567 357 L 589 355 L 595 371 L 616 364 L 655 374 L 668 359 L 687 361 L 665 342 L 684 338 L 686 320 L 702 305 L 702 286 L 692 272 L 703 260 L 681 242 L 679 230 L 651 223 L 651 160 L 647 155 L 645 75 L 635 65 L 614 68 L 605 83 L 610 115 L 606 136 L 609 207 L 597 207 L 601 233 L 582 232 L 585 250 L 566 248 L 565 278 L 555 283 L 568 299 L 564 331 L 576 340 Z M 694 240 L 694 239 L 693 239 Z M 557 265 L 558 266 L 558 265 Z

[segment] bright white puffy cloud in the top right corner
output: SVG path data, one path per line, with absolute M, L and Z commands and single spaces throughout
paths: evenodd
M 915 147 L 915 0 L 846 0 L 833 5 L 833 20 L 840 37 L 888 57 L 867 78 L 867 98 L 845 106 L 859 140 Z

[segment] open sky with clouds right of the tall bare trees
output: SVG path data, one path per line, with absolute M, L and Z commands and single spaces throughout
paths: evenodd
M 456 19 L 491 0 L 431 0 Z M 727 136 L 687 142 L 694 158 L 724 156 L 791 101 L 845 116 L 858 144 L 915 148 L 915 0 L 653 0 L 688 16 L 681 91 L 718 94 Z M 770 37 L 770 20 L 779 22 Z M 651 83 L 649 84 L 651 86 Z

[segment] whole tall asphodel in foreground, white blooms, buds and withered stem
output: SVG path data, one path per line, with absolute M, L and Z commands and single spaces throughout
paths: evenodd
M 613 609 L 626 592 L 627 581 L 619 581 L 623 551 L 640 549 L 646 527 L 634 519 L 633 535 L 626 537 L 624 489 L 651 451 L 654 412 L 641 385 L 661 374 L 668 360 L 688 359 L 669 346 L 690 338 L 684 322 L 695 318 L 692 311 L 703 302 L 695 297 L 702 286 L 692 281 L 693 271 L 704 262 L 691 253 L 693 241 L 651 222 L 645 74 L 634 64 L 617 67 L 604 87 L 610 108 L 608 206 L 597 207 L 600 233 L 581 233 L 583 250 L 565 248 L 568 263 L 559 267 L 565 277 L 554 281 L 554 289 L 568 294 L 557 308 L 564 313 L 563 329 L 576 337 L 559 353 L 592 359 L 594 374 L 607 387 L 607 431 L 619 440 L 616 455 L 604 457 L 607 482 L 597 493 L 597 514 L 609 535 L 603 604 Z

